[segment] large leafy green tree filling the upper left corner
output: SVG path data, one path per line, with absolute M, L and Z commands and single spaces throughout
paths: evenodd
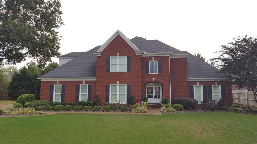
M 43 67 L 59 56 L 60 7 L 59 0 L 0 0 L 0 64 L 29 57 Z

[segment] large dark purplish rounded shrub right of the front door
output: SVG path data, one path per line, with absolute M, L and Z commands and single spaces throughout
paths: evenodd
M 195 109 L 197 106 L 197 100 L 193 98 L 173 98 L 171 104 L 180 104 L 183 105 L 184 109 L 190 110 Z

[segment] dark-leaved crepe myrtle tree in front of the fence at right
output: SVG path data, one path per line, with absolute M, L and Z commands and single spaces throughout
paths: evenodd
M 212 60 L 220 63 L 216 67 L 221 72 L 233 77 L 233 84 L 252 90 L 257 104 L 257 37 L 245 35 L 233 40 L 234 42 L 222 45 L 221 50 L 215 52 L 219 56 Z

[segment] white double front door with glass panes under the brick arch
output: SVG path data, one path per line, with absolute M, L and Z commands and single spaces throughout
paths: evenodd
M 162 99 L 162 87 L 161 86 L 146 86 L 146 97 L 149 104 L 156 105 L 161 104 Z

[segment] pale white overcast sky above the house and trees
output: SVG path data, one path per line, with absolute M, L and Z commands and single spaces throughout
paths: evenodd
M 257 36 L 257 1 L 61 0 L 61 4 L 62 54 L 103 45 L 117 29 L 127 38 L 158 39 L 191 54 L 200 52 L 207 59 L 232 38 Z

